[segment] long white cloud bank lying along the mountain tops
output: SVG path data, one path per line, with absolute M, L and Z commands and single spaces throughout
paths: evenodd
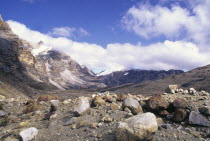
M 14 33 L 31 43 L 44 42 L 43 48 L 56 49 L 70 55 L 81 65 L 95 72 L 122 69 L 184 69 L 189 70 L 210 63 L 210 53 L 186 41 L 168 41 L 142 46 L 133 44 L 96 44 L 75 42 L 68 38 L 54 38 L 27 28 L 24 24 L 8 21 Z M 36 50 L 36 52 L 39 52 Z

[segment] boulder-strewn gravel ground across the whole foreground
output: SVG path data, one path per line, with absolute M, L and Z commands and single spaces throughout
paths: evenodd
M 93 94 L 61 100 L 0 96 L 2 141 L 210 140 L 210 94 L 178 89 L 155 96 Z

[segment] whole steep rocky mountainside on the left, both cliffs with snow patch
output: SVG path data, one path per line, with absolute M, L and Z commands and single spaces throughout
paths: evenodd
M 60 89 L 105 87 L 91 70 L 70 56 L 53 50 L 37 53 L 43 47 L 42 41 L 30 44 L 19 39 L 2 19 L 0 31 L 1 73 L 15 74 L 24 83 L 28 83 L 27 78 L 29 82 L 32 79 L 35 83 L 52 84 Z

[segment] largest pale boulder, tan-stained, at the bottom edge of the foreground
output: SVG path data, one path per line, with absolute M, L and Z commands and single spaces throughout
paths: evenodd
M 116 131 L 117 141 L 145 141 L 152 140 L 158 130 L 156 116 L 144 113 L 120 122 Z

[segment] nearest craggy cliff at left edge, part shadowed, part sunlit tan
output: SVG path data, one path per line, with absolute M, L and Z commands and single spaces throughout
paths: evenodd
M 9 25 L 0 20 L 0 69 L 2 72 L 27 73 L 38 81 L 47 82 L 44 67 L 32 55 L 25 41 L 15 35 Z M 42 67 L 40 67 L 42 66 Z

